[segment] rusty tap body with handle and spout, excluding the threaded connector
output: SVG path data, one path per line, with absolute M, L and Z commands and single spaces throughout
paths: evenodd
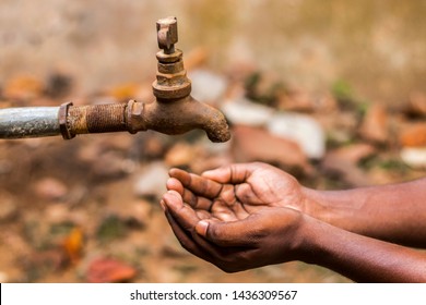
M 155 101 L 129 105 L 131 126 L 150 129 L 165 134 L 182 134 L 193 129 L 204 130 L 212 142 L 226 142 L 230 133 L 225 117 L 213 107 L 190 96 L 191 82 L 184 68 L 178 41 L 176 17 L 158 20 L 157 74 L 153 83 Z M 135 132 L 134 131 L 134 132 Z M 133 132 L 133 131 L 131 131 Z

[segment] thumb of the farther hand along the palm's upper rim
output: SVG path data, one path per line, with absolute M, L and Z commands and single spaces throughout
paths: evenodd
M 259 163 L 235 163 L 203 172 L 201 175 L 220 183 L 245 182 L 260 167 Z

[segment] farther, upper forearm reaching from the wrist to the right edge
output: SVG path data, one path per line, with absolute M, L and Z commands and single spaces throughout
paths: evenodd
M 348 191 L 305 188 L 307 213 L 358 234 L 426 247 L 426 179 Z

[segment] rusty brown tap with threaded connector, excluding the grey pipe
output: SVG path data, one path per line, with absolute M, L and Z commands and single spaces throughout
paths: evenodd
M 64 103 L 59 111 L 64 138 L 83 133 L 146 130 L 177 135 L 193 129 L 204 130 L 212 142 L 230 138 L 223 113 L 190 95 L 191 82 L 184 68 L 182 51 L 175 48 L 178 41 L 176 17 L 158 20 L 156 28 L 161 51 L 156 54 L 157 73 L 153 83 L 155 100 L 83 107 Z

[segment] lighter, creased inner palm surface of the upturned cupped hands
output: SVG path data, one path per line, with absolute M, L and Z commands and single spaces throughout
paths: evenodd
M 251 171 L 206 173 L 204 176 L 174 170 L 170 175 L 182 184 L 171 187 L 182 194 L 200 218 L 234 221 L 258 213 L 265 207 L 299 209 L 300 186 L 297 181 L 273 167 L 256 166 Z

